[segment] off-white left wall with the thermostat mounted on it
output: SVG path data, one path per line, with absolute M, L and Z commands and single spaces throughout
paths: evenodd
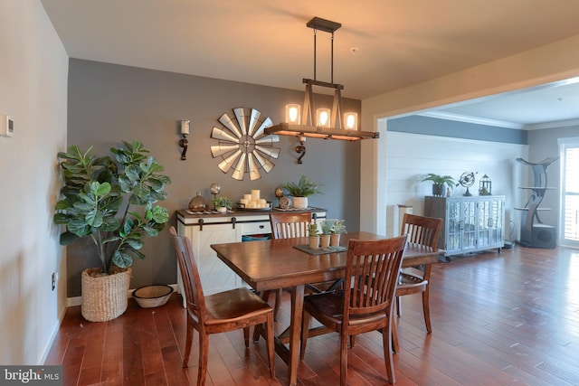
M 42 364 L 64 312 L 63 249 L 52 225 L 56 153 L 66 145 L 68 56 L 39 0 L 0 2 L 0 363 Z

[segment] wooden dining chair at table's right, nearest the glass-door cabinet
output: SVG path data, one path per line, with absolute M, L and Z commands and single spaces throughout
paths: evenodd
M 442 219 L 404 213 L 401 234 L 408 235 L 408 242 L 436 249 L 441 227 Z M 400 272 L 398 287 L 396 288 L 396 312 L 398 316 L 402 315 L 400 297 L 422 293 L 422 312 L 424 315 L 424 323 L 426 324 L 426 331 L 429 334 L 432 333 L 429 306 L 431 270 L 432 264 L 426 264 L 421 267 L 403 268 Z M 393 335 L 394 352 L 398 353 L 400 348 L 395 325 L 393 326 Z

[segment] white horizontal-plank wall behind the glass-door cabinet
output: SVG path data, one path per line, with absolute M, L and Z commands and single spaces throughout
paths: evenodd
M 478 195 L 479 180 L 489 175 L 493 195 L 506 196 L 505 226 L 517 218 L 513 211 L 520 205 L 520 186 L 526 174 L 517 173 L 517 157 L 526 157 L 528 146 L 474 141 L 450 137 L 422 136 L 388 132 L 386 134 L 386 235 L 397 231 L 396 205 L 413 207 L 414 214 L 424 214 L 424 196 L 432 195 L 432 183 L 421 182 L 428 173 L 449 174 L 458 181 L 463 172 L 478 172 L 470 193 Z M 462 186 L 452 189 L 453 196 L 466 192 Z M 515 236 L 515 235 L 514 235 Z

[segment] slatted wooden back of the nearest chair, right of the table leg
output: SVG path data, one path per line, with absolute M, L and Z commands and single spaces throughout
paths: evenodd
M 344 325 L 350 315 L 387 312 L 394 299 L 407 236 L 384 240 L 349 240 Z M 346 280 L 347 283 L 347 280 Z

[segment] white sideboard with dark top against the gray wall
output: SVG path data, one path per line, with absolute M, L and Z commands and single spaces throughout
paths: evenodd
M 308 208 L 308 210 L 294 212 L 311 212 L 314 220 L 326 220 L 325 209 Z M 177 233 L 180 236 L 188 237 L 193 245 L 193 253 L 199 268 L 204 294 L 211 295 L 242 287 L 242 278 L 238 277 L 231 268 L 217 258 L 211 245 L 242 241 L 243 236 L 270 235 L 270 212 L 205 213 L 179 210 L 176 214 Z M 183 306 L 185 306 L 183 281 L 178 264 L 177 291 L 183 296 Z

